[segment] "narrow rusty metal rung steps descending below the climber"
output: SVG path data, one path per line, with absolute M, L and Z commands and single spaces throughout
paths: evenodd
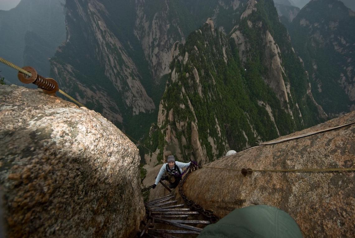
M 204 226 L 211 224 L 210 221 L 198 220 L 203 215 L 184 208 L 184 203 L 174 205 L 177 202 L 174 195 L 146 202 L 146 216 L 141 223 L 138 237 L 177 237 L 171 234 L 196 237 Z

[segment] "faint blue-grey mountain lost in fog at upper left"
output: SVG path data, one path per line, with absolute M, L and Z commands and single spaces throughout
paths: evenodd
M 49 58 L 65 41 L 64 4 L 65 0 L 21 0 L 9 11 L 0 10 L 1 57 L 21 67 L 31 65 L 48 77 Z M 20 84 L 16 70 L 0 67 L 7 81 Z

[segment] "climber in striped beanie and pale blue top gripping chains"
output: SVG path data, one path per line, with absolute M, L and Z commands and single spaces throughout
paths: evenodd
M 152 188 L 155 189 L 160 180 L 168 180 L 169 187 L 171 189 L 174 189 L 176 186 L 178 186 L 182 178 L 182 168 L 189 167 L 190 163 L 191 162 L 182 163 L 179 161 L 175 161 L 174 155 L 169 155 L 168 162 L 163 164 L 157 178 L 155 179 L 155 183 L 152 185 Z M 166 175 L 163 176 L 164 174 Z

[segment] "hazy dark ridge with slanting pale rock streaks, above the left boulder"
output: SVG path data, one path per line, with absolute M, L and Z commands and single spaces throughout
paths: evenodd
M 115 32 L 119 22 L 109 7 L 91 0 L 67 2 L 67 41 L 51 60 L 52 72 L 69 94 L 124 125 L 128 116 L 155 106 L 127 42 Z

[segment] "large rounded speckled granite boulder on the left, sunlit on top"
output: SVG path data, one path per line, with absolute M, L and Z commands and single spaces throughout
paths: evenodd
M 99 113 L 0 85 L 9 237 L 127 237 L 144 215 L 136 146 Z

